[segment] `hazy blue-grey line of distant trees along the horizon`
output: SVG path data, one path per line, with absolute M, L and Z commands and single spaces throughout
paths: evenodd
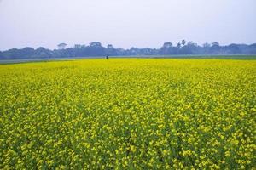
M 230 44 L 220 46 L 218 42 L 205 43 L 202 46 L 194 42 L 182 42 L 173 45 L 165 42 L 161 48 L 114 48 L 109 44 L 103 47 L 101 42 L 91 42 L 88 46 L 76 44 L 73 48 L 66 48 L 66 43 L 60 43 L 57 49 L 22 48 L 0 51 L 0 59 L 44 59 L 44 58 L 70 58 L 93 56 L 128 56 L 128 55 L 174 55 L 174 54 L 256 54 L 256 43 Z

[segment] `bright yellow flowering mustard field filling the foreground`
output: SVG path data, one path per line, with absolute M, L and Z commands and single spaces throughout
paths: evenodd
M 0 169 L 255 169 L 256 60 L 0 65 Z

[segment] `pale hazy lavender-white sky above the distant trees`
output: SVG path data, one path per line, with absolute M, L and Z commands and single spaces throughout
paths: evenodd
M 256 42 L 256 0 L 0 0 L 0 50 Z

